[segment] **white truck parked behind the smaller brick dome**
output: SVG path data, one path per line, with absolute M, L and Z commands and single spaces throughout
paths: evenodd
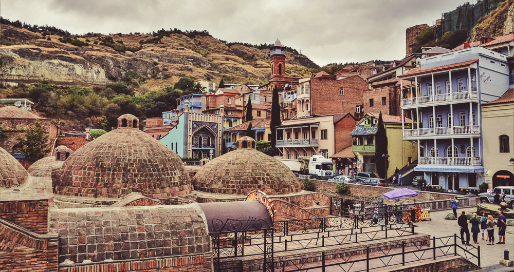
M 311 179 L 328 180 L 334 177 L 334 166 L 331 159 L 321 155 L 299 157 L 297 160 L 277 158 L 296 174 L 308 175 Z

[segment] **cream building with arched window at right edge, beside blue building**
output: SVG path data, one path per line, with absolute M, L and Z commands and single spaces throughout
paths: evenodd
M 499 99 L 486 102 L 482 109 L 482 139 L 484 142 L 485 182 L 495 186 L 514 186 L 514 89 Z

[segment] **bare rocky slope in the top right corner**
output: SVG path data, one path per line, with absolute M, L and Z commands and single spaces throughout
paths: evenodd
M 469 40 L 476 42 L 481 37 L 496 37 L 514 32 L 514 1 L 505 1 L 489 15 L 480 18 L 471 31 Z

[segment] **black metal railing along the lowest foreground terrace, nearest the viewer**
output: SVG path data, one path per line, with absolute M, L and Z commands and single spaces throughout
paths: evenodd
M 365 250 L 347 250 L 336 254 L 326 254 L 322 251 L 318 256 L 309 256 L 273 261 L 274 271 L 309 271 L 336 266 L 337 269 L 346 272 L 369 271 L 370 269 L 390 267 L 393 265 L 405 266 L 411 262 L 422 260 L 436 260 L 445 256 L 461 256 L 462 258 L 476 262 L 480 266 L 480 246 L 460 245 L 457 235 L 431 239 L 417 240 L 413 242 L 399 242 L 387 246 L 370 247 Z M 463 241 L 462 241 L 463 242 Z M 453 249 L 453 250 L 452 250 Z M 327 260 L 331 260 L 327 262 Z M 344 268 L 343 268 L 344 265 Z M 365 268 L 364 268 L 365 267 Z

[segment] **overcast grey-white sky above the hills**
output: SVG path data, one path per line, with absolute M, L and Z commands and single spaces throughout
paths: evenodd
M 1 15 L 71 33 L 208 30 L 228 42 L 282 44 L 318 65 L 399 60 L 405 30 L 466 0 L 4 0 Z M 472 4 L 476 0 L 470 0 Z

